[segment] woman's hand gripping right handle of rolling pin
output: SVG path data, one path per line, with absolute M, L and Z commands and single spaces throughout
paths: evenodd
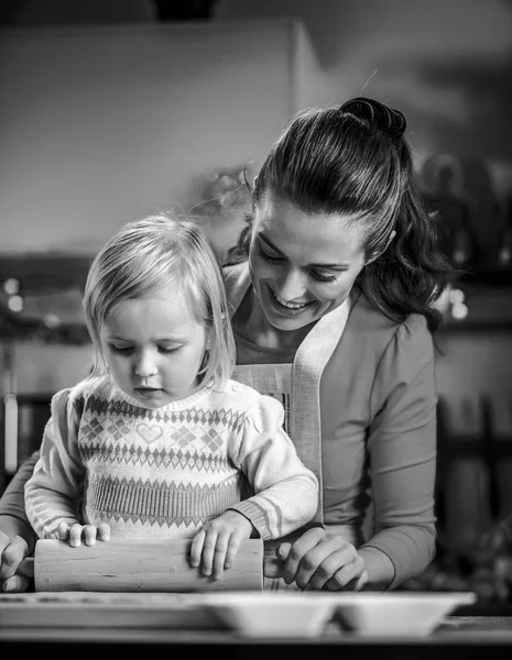
M 293 543 L 276 550 L 280 562 L 265 564 L 266 578 L 283 578 L 304 590 L 360 591 L 368 582 L 364 560 L 339 535 L 322 527 L 308 529 Z

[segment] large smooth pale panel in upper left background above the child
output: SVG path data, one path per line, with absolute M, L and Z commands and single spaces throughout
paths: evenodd
M 0 252 L 95 252 L 260 162 L 322 76 L 290 19 L 0 33 Z

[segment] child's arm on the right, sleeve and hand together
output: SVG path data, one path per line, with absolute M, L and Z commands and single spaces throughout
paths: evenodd
M 194 537 L 190 563 L 218 580 L 235 561 L 243 539 L 281 538 L 308 522 L 318 507 L 318 480 L 298 459 L 283 430 L 281 404 L 262 396 L 247 418 L 229 454 L 249 479 L 255 495 L 230 506 Z

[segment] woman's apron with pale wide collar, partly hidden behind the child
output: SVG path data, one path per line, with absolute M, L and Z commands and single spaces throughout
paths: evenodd
M 243 267 L 243 272 L 241 271 Z M 228 299 L 231 302 L 231 316 L 238 309 L 250 286 L 247 264 L 239 264 L 236 280 L 227 279 Z M 292 364 L 242 364 L 235 367 L 232 378 L 258 389 L 261 394 L 273 396 L 284 407 L 284 430 L 292 438 L 297 453 L 305 465 L 318 479 L 318 509 L 307 527 L 324 527 L 324 490 L 322 471 L 322 428 L 320 428 L 320 378 L 325 365 L 331 356 L 344 332 L 350 300 L 319 319 L 298 346 Z M 293 541 L 305 528 L 290 535 L 286 539 L 265 541 L 265 558 L 275 557 L 275 548 L 284 540 Z M 359 544 L 356 530 L 348 525 L 329 526 L 350 543 Z M 295 584 L 287 585 L 281 579 L 264 579 L 265 590 L 297 590 Z

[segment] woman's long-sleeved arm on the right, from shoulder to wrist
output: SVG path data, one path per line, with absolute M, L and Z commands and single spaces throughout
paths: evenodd
M 410 317 L 397 329 L 382 356 L 370 405 L 373 536 L 359 551 L 363 557 L 373 552 L 371 583 L 382 584 L 391 561 L 389 588 L 394 588 L 423 572 L 435 554 L 437 395 L 434 346 L 423 317 Z

